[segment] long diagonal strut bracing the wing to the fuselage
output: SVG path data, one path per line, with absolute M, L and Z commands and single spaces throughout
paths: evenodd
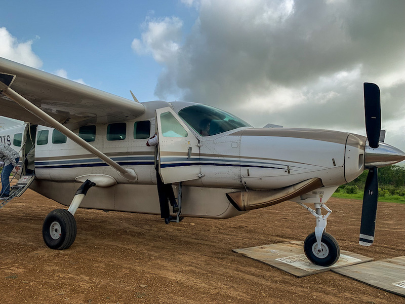
M 68 128 L 63 126 L 57 120 L 52 118 L 50 115 L 48 115 L 42 109 L 40 109 L 37 106 L 35 106 L 34 104 L 32 104 L 27 99 L 25 99 L 23 96 L 21 96 L 20 94 L 18 94 L 13 89 L 6 86 L 4 83 L 2 83 L 0 81 L 0 94 L 2 94 L 2 93 L 5 94 L 6 96 L 8 96 L 10 99 L 14 100 L 16 103 L 21 105 L 23 108 L 25 108 L 27 111 L 31 112 L 33 115 L 35 115 L 39 119 L 42 119 L 44 122 L 50 124 L 56 130 L 60 131 L 62 134 L 69 137 L 71 140 L 73 140 L 79 146 L 88 150 L 91 154 L 98 157 L 100 160 L 105 162 L 108 166 L 117 170 L 118 173 L 120 173 L 120 175 L 123 176 L 124 178 L 126 178 L 127 180 L 133 181 L 133 182 L 137 181 L 138 176 L 136 175 L 134 170 L 132 170 L 132 169 L 128 170 L 128 169 L 120 166 L 119 164 L 114 162 L 112 159 L 110 159 L 108 156 L 106 156 L 104 153 L 102 153 L 100 150 L 96 149 L 94 146 L 89 144 L 86 140 L 84 140 L 83 138 L 74 134 L 72 131 L 70 131 Z

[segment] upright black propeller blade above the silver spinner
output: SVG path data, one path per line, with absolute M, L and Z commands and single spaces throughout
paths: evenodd
M 364 107 L 369 145 L 377 148 L 381 130 L 381 105 L 380 89 L 376 84 L 364 83 Z

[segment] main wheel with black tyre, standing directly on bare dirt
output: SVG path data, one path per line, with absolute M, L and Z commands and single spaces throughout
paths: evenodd
M 42 236 L 45 244 L 52 249 L 67 249 L 76 238 L 76 220 L 65 209 L 51 211 L 44 220 Z

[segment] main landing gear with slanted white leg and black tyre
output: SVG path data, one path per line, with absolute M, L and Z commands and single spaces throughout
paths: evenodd
M 62 250 L 73 244 L 77 232 L 74 213 L 89 189 L 95 185 L 94 182 L 86 180 L 77 189 L 68 210 L 55 209 L 47 215 L 42 226 L 42 236 L 49 248 Z

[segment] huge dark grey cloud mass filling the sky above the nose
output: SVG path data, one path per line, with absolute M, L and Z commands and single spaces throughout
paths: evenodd
M 405 2 L 196 3 L 198 18 L 187 35 L 171 17 L 146 20 L 141 40 L 134 40 L 138 54 L 163 66 L 157 97 L 214 105 L 257 127 L 363 132 L 362 83 L 376 82 L 383 127 L 405 116 Z M 173 31 L 154 34 L 156 24 Z

